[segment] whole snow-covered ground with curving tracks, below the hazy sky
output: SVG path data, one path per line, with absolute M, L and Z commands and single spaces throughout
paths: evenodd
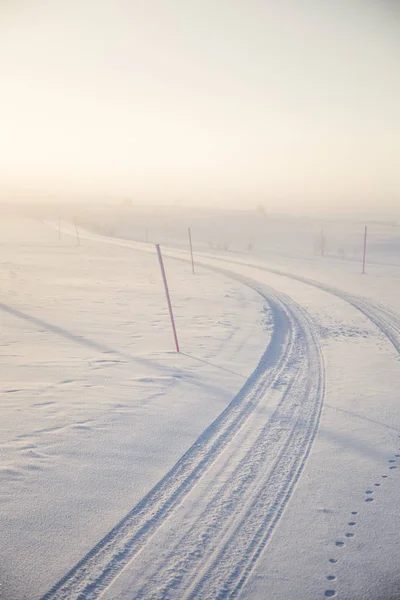
M 91 229 L 1 225 L 0 597 L 399 598 L 394 230 L 364 276 L 151 240 L 176 354 L 154 246 Z

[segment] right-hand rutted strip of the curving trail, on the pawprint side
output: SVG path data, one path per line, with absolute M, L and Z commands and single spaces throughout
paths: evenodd
M 306 313 L 294 303 L 291 310 L 301 323 L 287 365 L 291 384 L 245 456 L 233 455 L 236 467 L 215 482 L 215 493 L 175 546 L 161 560 L 147 558 L 150 573 L 135 573 L 130 598 L 234 598 L 245 584 L 300 476 L 322 407 L 319 344 Z

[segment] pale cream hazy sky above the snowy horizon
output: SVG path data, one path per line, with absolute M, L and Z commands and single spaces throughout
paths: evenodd
M 0 195 L 400 205 L 398 0 L 0 0 Z

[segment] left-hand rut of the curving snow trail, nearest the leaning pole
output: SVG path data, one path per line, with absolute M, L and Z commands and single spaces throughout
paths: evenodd
M 211 269 L 249 285 L 269 302 L 274 330 L 268 348 L 230 405 L 171 471 L 42 600 L 98 598 L 224 451 L 293 357 L 300 327 L 288 299 L 245 277 Z

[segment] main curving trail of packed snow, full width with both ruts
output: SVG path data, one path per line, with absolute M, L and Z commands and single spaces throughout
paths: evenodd
M 228 275 L 229 271 L 224 270 Z M 234 273 L 231 276 L 238 278 Z M 240 280 L 273 310 L 272 340 L 254 374 L 174 469 L 44 598 L 97 598 L 156 535 L 202 477 L 198 510 L 186 536 L 157 564 L 138 566 L 129 592 L 138 597 L 236 595 L 265 546 L 302 470 L 323 400 L 323 362 L 306 313 L 283 295 Z M 268 408 L 274 399 L 275 408 Z M 188 503 L 192 503 L 191 496 Z M 195 500 L 194 502 L 198 502 Z M 238 510 L 240 507 L 240 510 Z M 182 533 L 180 518 L 175 535 Z M 165 542 L 163 542 L 165 548 Z M 140 561 L 139 561 L 140 562 Z M 157 566 L 150 577 L 149 565 Z M 153 571 L 152 571 L 153 572 Z M 176 573 L 185 573 L 177 577 Z M 141 581 L 140 573 L 145 573 Z M 150 583 L 149 583 L 150 581 Z M 114 590 L 111 592 L 114 595 Z

